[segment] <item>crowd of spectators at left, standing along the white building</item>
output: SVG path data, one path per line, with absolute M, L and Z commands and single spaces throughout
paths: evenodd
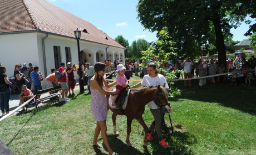
M 78 68 L 72 65 L 71 62 L 67 63 L 67 68 L 65 63 L 61 63 L 60 68 L 51 69 L 51 74 L 43 78 L 38 66 L 32 66 L 31 63 L 16 64 L 14 66 L 13 76 L 9 77 L 6 74 L 6 68 L 0 64 L 0 105 L 2 116 L 9 113 L 9 99 L 11 93 L 17 92 L 19 94 L 19 105 L 22 105 L 31 97 L 37 94 L 38 90 L 42 90 L 42 81 L 45 81 L 46 88 L 55 87 L 61 85 L 61 97 L 62 101 L 67 102 L 68 96 L 75 95 L 74 89 L 76 85 L 75 72 L 79 77 L 78 81 L 81 83 L 81 93 L 84 92 L 85 85 L 88 86 L 89 94 L 90 92 L 90 79 L 94 75 L 94 68 L 90 66 L 90 63 L 81 64 Z M 57 79 L 56 72 L 60 73 L 62 76 Z M 58 92 L 58 90 L 50 92 Z M 40 99 L 40 95 L 37 95 L 37 99 Z M 42 101 L 41 101 L 42 102 Z M 25 111 L 22 108 L 22 111 Z

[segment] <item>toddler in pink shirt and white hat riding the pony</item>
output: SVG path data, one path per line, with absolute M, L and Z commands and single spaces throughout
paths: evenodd
M 116 75 L 116 90 L 120 90 L 119 93 L 115 94 L 113 101 L 112 101 L 112 106 L 116 106 L 115 102 L 117 97 L 119 96 L 120 92 L 122 90 L 127 88 L 128 81 L 126 79 L 125 74 L 125 66 L 122 64 L 117 65 L 117 75 Z

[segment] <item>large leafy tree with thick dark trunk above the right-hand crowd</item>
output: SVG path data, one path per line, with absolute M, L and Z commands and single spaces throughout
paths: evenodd
M 195 56 L 201 53 L 201 45 L 215 45 L 219 62 L 225 64 L 224 38 L 232 35 L 230 29 L 248 13 L 255 12 L 252 8 L 242 0 L 140 0 L 137 18 L 151 32 L 168 27 L 179 55 Z

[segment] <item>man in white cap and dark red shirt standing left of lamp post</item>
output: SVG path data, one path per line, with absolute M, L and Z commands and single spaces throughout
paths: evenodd
M 73 71 L 76 71 L 76 67 L 75 65 L 73 65 L 73 67 L 71 65 L 71 62 L 67 63 L 67 86 L 69 95 L 75 95 L 74 89 L 76 85 L 76 78 Z M 70 92 L 70 89 L 72 90 L 72 94 Z

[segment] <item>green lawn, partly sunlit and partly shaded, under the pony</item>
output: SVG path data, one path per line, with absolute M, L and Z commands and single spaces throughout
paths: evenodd
M 198 80 L 194 80 L 192 87 L 184 87 L 183 81 L 175 82 L 175 86 L 182 93 L 170 101 L 174 133 L 165 135 L 170 148 L 161 148 L 156 134 L 147 149 L 143 148 L 143 131 L 136 120 L 132 122 L 132 147 L 126 147 L 126 117 L 117 116 L 121 136 L 116 137 L 109 111 L 107 134 L 114 151 L 120 154 L 256 154 L 255 85 L 223 83 L 199 87 Z M 46 105 L 39 111 L 7 118 L 0 123 L 0 139 L 14 154 L 107 154 L 105 147 L 92 147 L 96 123 L 90 100 L 90 95 L 76 95 L 65 104 Z M 143 117 L 149 126 L 153 120 L 149 108 Z M 170 130 L 168 121 L 166 115 Z M 101 138 L 99 142 L 102 143 Z

